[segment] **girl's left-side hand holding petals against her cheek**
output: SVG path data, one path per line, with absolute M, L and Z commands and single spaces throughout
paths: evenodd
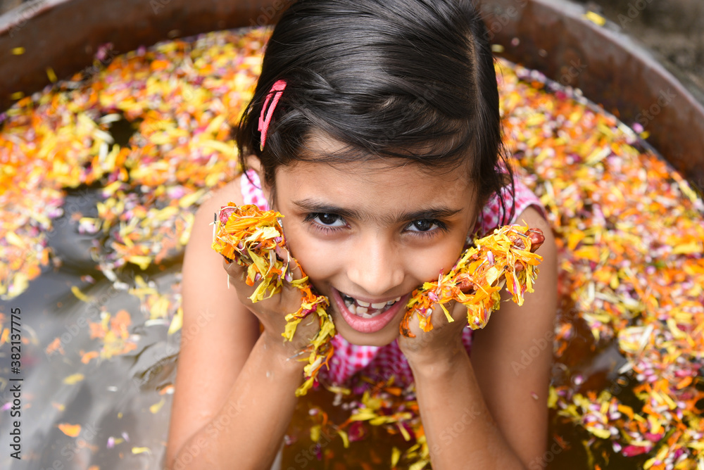
M 302 279 L 303 273 L 301 272 L 301 268 L 298 266 L 298 263 L 291 258 L 288 250 L 285 248 L 277 248 L 277 255 L 279 258 L 289 258 L 291 260 L 289 267 L 292 268 L 291 276 L 294 280 Z M 291 285 L 288 281 L 284 281 L 279 293 L 276 293 L 268 299 L 253 303 L 249 297 L 254 292 L 256 284 L 255 286 L 248 286 L 246 284 L 247 267 L 240 266 L 237 262 L 230 262 L 224 256 L 222 257 L 222 266 L 225 267 L 225 271 L 227 272 L 228 282 L 237 290 L 237 297 L 242 305 L 249 308 L 259 319 L 260 324 L 263 325 L 264 331 L 262 335 L 265 335 L 265 341 L 268 347 L 271 347 L 272 350 L 276 352 L 281 352 L 288 358 L 293 358 L 298 355 L 298 352 L 303 350 L 303 348 L 306 348 L 308 343 L 310 343 L 310 339 L 320 330 L 317 315 L 308 315 L 307 318 L 304 318 L 301 323 L 298 324 L 296 334 L 294 334 L 292 341 L 287 341 L 282 336 L 287 323 L 285 317 L 289 315 L 289 313 L 296 312 L 301 307 L 303 296 L 296 286 Z M 298 357 L 296 357 L 296 359 L 298 359 Z M 301 364 L 301 369 L 303 369 L 306 362 L 299 363 Z

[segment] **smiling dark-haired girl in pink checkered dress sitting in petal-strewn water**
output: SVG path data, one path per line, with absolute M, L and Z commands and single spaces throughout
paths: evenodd
M 281 212 L 282 255 L 329 298 L 338 335 L 320 381 L 389 371 L 414 381 L 434 469 L 540 466 L 555 243 L 501 158 L 494 63 L 470 1 L 293 4 L 237 141 L 249 170 L 200 208 L 184 259 L 182 331 L 196 333 L 182 337 L 168 468 L 269 469 L 303 381 L 305 363 L 291 357 L 317 327 L 284 343 L 298 289 L 253 304 L 244 269 L 210 248 L 213 213 L 229 201 Z M 514 222 L 546 235 L 522 307 L 504 303 L 474 335 L 465 307 L 451 307 L 451 323 L 438 307 L 432 331 L 414 321 L 415 338 L 399 336 L 417 286 L 448 272 L 475 234 Z

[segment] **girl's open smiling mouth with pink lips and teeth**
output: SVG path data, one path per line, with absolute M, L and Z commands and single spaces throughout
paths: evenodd
M 332 289 L 337 310 L 352 329 L 360 333 L 374 333 L 384 328 L 408 301 L 409 294 L 378 303 L 367 302 Z

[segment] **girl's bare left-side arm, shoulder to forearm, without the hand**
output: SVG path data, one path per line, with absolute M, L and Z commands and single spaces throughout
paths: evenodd
M 228 201 L 241 203 L 239 180 L 201 206 L 184 257 L 167 469 L 227 468 L 233 462 L 269 469 L 303 380 L 303 364 L 286 359 L 282 341 L 269 344 L 275 335 L 260 336 L 258 318 L 237 288 L 227 287 L 222 256 L 210 248 L 213 213 Z

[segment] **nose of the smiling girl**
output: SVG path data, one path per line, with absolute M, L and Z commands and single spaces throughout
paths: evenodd
M 394 243 L 379 234 L 363 238 L 348 262 L 347 276 L 370 296 L 383 296 L 403 283 L 403 258 Z

